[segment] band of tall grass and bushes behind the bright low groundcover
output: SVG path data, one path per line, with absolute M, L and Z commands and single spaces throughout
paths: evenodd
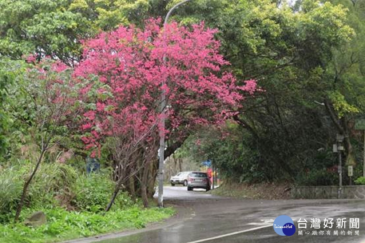
M 9 222 L 33 167 L 29 161 L 0 171 L 0 223 Z M 104 211 L 115 183 L 110 171 L 78 175 L 74 167 L 62 163 L 43 163 L 28 188 L 26 208 L 53 208 L 63 205 L 81 211 Z M 57 198 L 57 200 L 56 200 Z M 126 192 L 120 192 L 112 209 L 134 205 Z M 71 207 L 69 207 L 71 206 Z

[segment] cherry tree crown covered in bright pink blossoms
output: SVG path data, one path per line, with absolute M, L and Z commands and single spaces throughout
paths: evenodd
M 150 19 L 143 29 L 120 27 L 85 41 L 84 58 L 73 76 L 85 107 L 82 140 L 92 156 L 105 137 L 114 136 L 128 146 L 144 144 L 144 158 L 157 158 L 152 144 L 162 129 L 162 92 L 167 139 L 234 115 L 245 95 L 255 92 L 256 83 L 243 84 L 222 71 L 229 63 L 219 54 L 216 32 L 204 23 L 170 23 L 164 29 L 160 19 Z

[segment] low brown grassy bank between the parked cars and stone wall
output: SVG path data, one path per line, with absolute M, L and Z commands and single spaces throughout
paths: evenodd
M 219 188 L 212 190 L 211 193 L 218 196 L 227 196 L 246 199 L 289 199 L 290 191 L 288 185 L 284 184 L 239 184 L 224 183 Z

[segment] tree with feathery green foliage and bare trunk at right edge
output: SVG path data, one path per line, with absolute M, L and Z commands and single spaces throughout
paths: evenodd
M 331 1 L 349 9 L 347 23 L 356 35 L 347 44 L 334 51 L 326 75 L 330 85 L 322 93 L 328 114 L 338 134 L 344 135 L 347 165 L 356 165 L 353 143 L 358 137 L 354 131 L 354 120 L 364 117 L 364 1 Z M 362 139 L 360 139 L 362 140 Z M 355 142 L 356 143 L 356 142 Z

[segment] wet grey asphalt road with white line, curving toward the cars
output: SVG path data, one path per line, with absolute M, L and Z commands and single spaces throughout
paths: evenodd
M 188 192 L 183 186 L 164 188 L 165 205 L 174 204 L 179 216 L 165 224 L 143 232 L 125 233 L 123 237 L 97 241 L 98 243 L 275 243 L 275 242 L 350 242 L 365 243 L 365 200 L 238 200 L 212 196 L 203 190 Z M 296 232 L 280 236 L 274 232 L 273 221 L 279 215 L 288 215 L 294 221 Z M 308 221 L 301 228 L 299 219 Z M 311 218 L 321 219 L 320 229 L 311 229 Z M 324 218 L 334 218 L 331 235 L 323 228 Z M 346 218 L 345 234 L 336 228 L 336 219 Z M 349 219 L 359 218 L 360 228 L 350 229 Z M 170 223 L 168 223 L 170 221 Z M 306 234 L 306 230 L 310 234 Z M 317 235 L 312 235 L 316 230 Z M 324 235 L 319 235 L 319 231 Z M 338 230 L 338 236 L 333 231 Z M 342 229 L 343 230 L 343 229 Z M 352 235 L 348 235 L 348 231 Z M 355 230 L 359 235 L 355 235 Z M 127 235 L 130 234 L 130 235 Z M 123 235 L 123 234 L 122 234 Z M 115 237 L 111 236 L 111 237 Z M 94 239 L 95 241 L 95 239 Z M 77 241 L 86 243 L 87 241 Z M 90 241 L 89 241 L 90 242 Z

